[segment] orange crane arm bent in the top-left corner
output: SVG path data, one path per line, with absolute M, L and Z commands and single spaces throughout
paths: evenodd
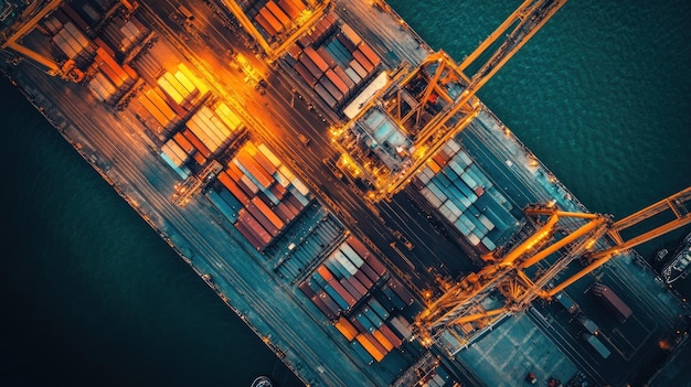
M 29 34 L 43 18 L 53 12 L 62 0 L 51 0 L 47 4 L 42 7 L 31 19 L 22 22 L 17 31 L 11 34 L 7 41 L 1 45 L 2 49 L 10 49 L 17 53 L 20 53 L 30 60 L 45 66 L 47 74 L 51 76 L 61 76 L 63 79 L 72 80 L 75 83 L 84 79 L 84 72 L 82 72 L 73 60 L 67 60 L 62 64 L 56 63 L 50 57 L 46 57 L 26 46 L 21 45 L 18 41 L 24 35 Z

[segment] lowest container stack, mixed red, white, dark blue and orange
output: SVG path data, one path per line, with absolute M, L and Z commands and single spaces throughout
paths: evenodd
M 365 362 L 381 362 L 411 336 L 397 311 L 413 295 L 358 238 L 349 236 L 298 288 Z

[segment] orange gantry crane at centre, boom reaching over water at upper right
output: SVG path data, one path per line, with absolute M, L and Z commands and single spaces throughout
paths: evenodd
M 480 104 L 474 100 L 475 94 L 503 66 L 504 63 L 518 52 L 548 20 L 566 2 L 566 0 L 525 0 L 509 18 L 470 54 L 460 65 L 444 52 L 430 54 L 415 71 L 401 80 L 390 79 L 383 90 L 343 126 L 352 128 L 357 121 L 372 108 L 386 110 L 389 117 L 402 128 L 411 139 L 411 154 L 400 163 L 397 171 L 391 171 L 391 175 L 374 179 L 374 192 L 368 198 L 373 201 L 389 200 L 401 191 L 411 178 L 417 173 L 421 166 L 433 157 L 444 144 L 461 130 L 479 114 Z M 474 64 L 490 46 L 495 45 L 500 37 L 503 42 L 489 58 L 481 64 L 479 69 L 468 77 L 464 71 Z M 423 72 L 424 69 L 424 72 Z M 413 82 L 424 78 L 425 89 L 410 93 Z M 458 84 L 459 87 L 455 85 Z M 451 87 L 449 87 L 451 85 Z M 407 93 L 404 90 L 407 88 Z M 430 105 L 443 106 L 434 112 L 434 117 L 425 117 Z M 334 131 L 339 135 L 344 131 Z M 338 142 L 338 141 L 336 141 Z M 348 150 L 343 150 L 348 153 Z M 354 159 L 358 163 L 358 158 Z M 376 173 L 368 171 L 370 161 L 359 162 L 357 168 L 363 171 L 363 175 L 372 176 Z

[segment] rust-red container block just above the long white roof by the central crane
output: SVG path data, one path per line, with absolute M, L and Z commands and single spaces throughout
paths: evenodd
M 289 47 L 286 62 L 332 109 L 349 100 L 379 68 L 381 58 L 333 13 Z

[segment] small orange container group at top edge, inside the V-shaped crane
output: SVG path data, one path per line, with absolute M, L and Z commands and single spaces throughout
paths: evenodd
M 251 12 L 256 12 L 252 19 L 270 40 L 291 31 L 305 8 L 300 0 L 268 0 L 258 10 Z

